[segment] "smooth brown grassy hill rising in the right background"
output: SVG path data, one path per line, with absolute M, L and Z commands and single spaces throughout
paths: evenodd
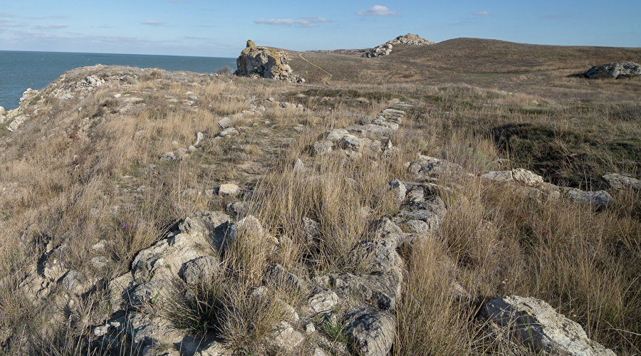
M 638 80 L 610 85 L 573 78 L 591 66 L 613 61 L 641 61 L 641 48 L 455 38 L 430 46 L 396 45 L 390 56 L 376 58 L 360 58 L 358 53 L 291 52 L 291 67 L 311 83 L 466 83 L 546 96 L 588 98 L 607 91 L 637 98 L 641 94 Z

